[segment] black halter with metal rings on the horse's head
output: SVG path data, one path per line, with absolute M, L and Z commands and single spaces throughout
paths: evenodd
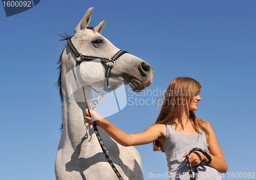
M 75 54 L 76 56 L 76 70 L 77 70 L 77 76 L 78 76 L 78 80 L 80 81 L 81 84 L 86 84 L 86 82 L 84 82 L 80 76 L 80 64 L 82 61 L 92 61 L 92 60 L 95 60 L 95 59 L 100 59 L 100 62 L 101 63 L 104 63 L 106 64 L 106 68 L 108 69 L 106 72 L 105 72 L 105 80 L 104 80 L 104 86 L 103 86 L 103 89 L 104 91 L 106 92 L 109 92 L 111 91 L 112 89 L 115 89 L 117 86 L 113 86 L 113 87 L 110 87 L 109 88 L 109 78 L 110 78 L 110 72 L 113 68 L 113 66 L 115 65 L 116 63 L 116 60 L 122 56 L 123 54 L 125 53 L 128 53 L 126 51 L 123 51 L 123 50 L 120 50 L 118 51 L 112 58 L 109 58 L 109 59 L 106 59 L 106 58 L 101 58 L 101 57 L 94 57 L 94 56 L 86 56 L 86 55 L 82 55 L 81 53 L 79 53 L 74 44 L 72 43 L 71 41 L 71 38 L 73 36 L 70 36 L 67 40 L 68 40 L 68 44 L 71 48 L 71 50 L 73 51 L 73 53 Z

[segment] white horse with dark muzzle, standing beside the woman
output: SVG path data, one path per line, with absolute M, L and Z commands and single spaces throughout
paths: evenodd
M 77 51 L 83 55 L 112 57 L 119 49 L 101 35 L 105 19 L 95 28 L 88 27 L 92 10 L 93 8 L 90 8 L 79 22 L 71 40 Z M 63 102 L 63 129 L 55 162 L 56 179 L 118 179 L 102 153 L 92 126 L 84 121 L 86 116 L 84 109 L 88 108 L 88 104 L 86 101 L 72 101 L 68 96 L 66 74 L 76 67 L 76 56 L 70 46 L 67 45 L 62 51 L 59 63 L 58 86 Z M 105 71 L 106 66 L 103 63 L 82 62 L 80 65 L 81 78 L 92 79 L 94 82 L 102 82 Z M 124 84 L 130 84 L 133 91 L 139 92 L 152 83 L 153 69 L 142 59 L 126 53 L 116 61 L 110 77 L 115 78 L 110 78 L 110 83 L 124 82 Z M 103 87 L 103 84 L 99 83 L 97 86 Z M 85 91 L 90 93 L 91 89 L 88 88 Z M 98 129 L 123 179 L 143 179 L 138 151 L 134 147 L 119 145 L 101 128 Z

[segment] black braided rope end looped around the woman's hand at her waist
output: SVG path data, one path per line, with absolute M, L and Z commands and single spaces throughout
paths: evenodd
M 202 161 L 200 164 L 208 165 L 208 164 L 211 163 L 210 155 L 207 152 L 205 152 L 203 149 L 200 149 L 200 148 L 197 148 L 197 147 L 193 148 L 193 149 L 190 150 L 189 154 L 191 154 L 194 151 L 202 152 L 206 156 L 206 158 L 208 159 L 207 162 L 206 161 Z M 190 178 L 190 180 L 196 180 L 197 177 L 198 177 L 198 173 L 199 173 L 199 171 L 198 171 L 198 166 L 199 165 L 195 166 L 196 170 L 195 170 L 195 174 L 193 175 L 192 166 L 191 166 L 191 163 L 190 163 L 190 160 L 189 160 L 189 154 L 187 154 L 185 156 L 185 159 L 186 159 L 186 162 L 187 162 L 187 169 L 188 169 L 188 173 L 189 173 L 189 178 Z

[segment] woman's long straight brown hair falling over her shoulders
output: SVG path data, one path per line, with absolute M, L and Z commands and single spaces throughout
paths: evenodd
M 176 124 L 181 122 L 183 113 L 189 117 L 191 124 L 196 132 L 202 134 L 199 128 L 205 132 L 207 143 L 210 133 L 206 124 L 200 120 L 194 113 L 188 109 L 188 104 L 201 91 L 201 85 L 193 78 L 179 77 L 170 82 L 162 101 L 162 107 L 155 124 Z M 176 124 L 177 125 L 177 124 Z M 153 142 L 154 151 L 164 151 L 159 141 Z

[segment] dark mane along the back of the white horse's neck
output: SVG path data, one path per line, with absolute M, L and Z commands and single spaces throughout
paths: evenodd
M 93 30 L 94 29 L 94 26 L 92 27 L 87 27 L 87 29 L 90 29 L 90 30 Z M 94 31 L 94 30 L 93 30 Z M 57 33 L 58 34 L 58 33 Z M 61 36 L 61 39 L 59 39 L 59 42 L 60 41 L 63 41 L 63 40 L 68 40 L 70 37 L 72 37 L 72 35 L 68 35 L 67 33 L 63 33 L 63 34 L 58 34 L 59 36 Z M 66 45 L 67 46 L 67 45 Z M 65 46 L 65 47 L 66 47 Z M 62 91 L 61 91 L 61 61 L 62 61 L 62 54 L 64 52 L 65 48 L 62 50 L 60 56 L 59 56 L 59 60 L 57 62 L 57 64 L 59 65 L 58 68 L 56 69 L 59 73 L 59 77 L 58 77 L 58 80 L 57 82 L 55 83 L 55 85 L 57 84 L 57 88 L 58 88 L 58 91 L 59 91 L 59 97 L 60 97 L 60 101 L 61 101 L 61 111 L 63 111 L 63 94 L 62 94 Z M 62 118 L 61 118 L 62 119 Z M 60 126 L 60 130 L 63 129 L 63 123 L 61 124 Z

